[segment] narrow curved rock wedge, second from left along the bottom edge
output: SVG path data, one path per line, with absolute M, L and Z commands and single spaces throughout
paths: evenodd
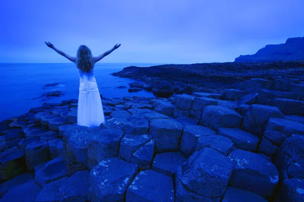
M 54 182 L 51 182 L 43 187 L 41 192 L 36 197 L 36 202 L 60 201 L 59 188 L 68 177 L 63 177 Z

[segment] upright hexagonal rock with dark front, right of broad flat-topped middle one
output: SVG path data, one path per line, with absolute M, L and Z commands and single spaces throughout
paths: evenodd
M 276 107 L 251 105 L 247 111 L 241 128 L 261 137 L 270 118 L 282 118 L 281 111 Z

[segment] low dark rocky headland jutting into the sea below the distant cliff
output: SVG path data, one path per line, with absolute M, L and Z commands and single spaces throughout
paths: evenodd
M 224 89 L 238 88 L 240 83 L 261 78 L 304 78 L 303 61 L 264 63 L 201 63 L 189 65 L 159 65 L 152 67 L 124 68 L 113 76 L 126 77 L 142 82 L 141 89 L 156 96 L 192 92 L 222 93 Z M 131 91 L 133 88 L 130 86 Z M 140 89 L 134 89 L 140 90 Z

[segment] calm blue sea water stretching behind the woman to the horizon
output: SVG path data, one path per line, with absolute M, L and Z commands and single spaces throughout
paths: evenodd
M 135 82 L 133 79 L 120 78 L 110 75 L 128 66 L 150 67 L 161 64 L 150 63 L 97 63 L 95 65 L 95 78 L 100 94 L 106 98 L 124 96 L 155 97 L 152 92 L 128 92 L 127 86 Z M 0 82 L 0 121 L 20 116 L 43 103 L 60 103 L 63 99 L 76 98 L 79 94 L 79 75 L 73 63 L 14 63 L 0 64 L 2 79 Z M 137 81 L 138 82 L 138 81 Z M 58 83 L 57 86 L 43 85 Z M 60 90 L 63 96 L 48 99 L 37 98 L 44 93 Z M 35 99 L 36 98 L 36 99 Z

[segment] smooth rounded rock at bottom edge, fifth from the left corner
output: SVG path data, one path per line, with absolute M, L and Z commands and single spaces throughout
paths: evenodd
M 127 189 L 126 201 L 174 201 L 172 178 L 154 170 L 140 171 Z

